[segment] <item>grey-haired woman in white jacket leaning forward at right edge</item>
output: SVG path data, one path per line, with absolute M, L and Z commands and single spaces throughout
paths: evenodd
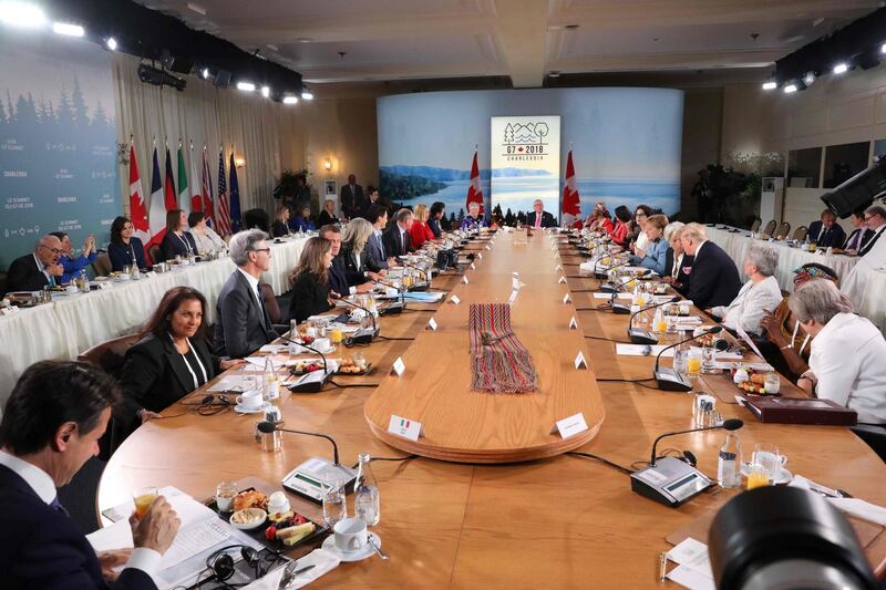
M 858 422 L 886 424 L 886 340 L 831 281 L 810 281 L 787 303 L 814 337 L 810 370 L 797 385 L 858 413 Z

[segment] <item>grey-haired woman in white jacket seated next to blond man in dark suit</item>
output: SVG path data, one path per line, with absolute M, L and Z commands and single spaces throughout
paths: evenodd
M 779 268 L 779 250 L 754 244 L 744 256 L 744 273 L 750 277 L 729 306 L 707 310 L 727 328 L 741 328 L 749 334 L 763 332 L 761 321 L 766 312 L 775 311 L 782 302 L 782 290 L 773 277 Z

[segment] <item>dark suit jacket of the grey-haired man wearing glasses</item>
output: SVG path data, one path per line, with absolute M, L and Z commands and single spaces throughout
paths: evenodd
M 259 307 L 249 281 L 239 270 L 231 272 L 225 281 L 215 309 L 213 343 L 219 356 L 243 359 L 278 337 L 268 312 Z

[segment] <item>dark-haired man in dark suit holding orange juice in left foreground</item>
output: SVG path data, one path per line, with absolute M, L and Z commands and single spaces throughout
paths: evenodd
M 19 379 L 0 423 L 3 588 L 156 588 L 151 576 L 179 526 L 165 498 L 130 517 L 135 549 L 95 555 L 55 491 L 99 454 L 119 398 L 114 380 L 86 363 L 42 361 Z

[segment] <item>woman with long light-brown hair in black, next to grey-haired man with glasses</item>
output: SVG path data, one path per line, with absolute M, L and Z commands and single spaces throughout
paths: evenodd
M 292 271 L 292 302 L 289 317 L 303 322 L 311 315 L 329 311 L 334 304 L 329 299 L 327 271 L 332 266 L 332 242 L 313 237 L 305 244 L 298 266 Z

